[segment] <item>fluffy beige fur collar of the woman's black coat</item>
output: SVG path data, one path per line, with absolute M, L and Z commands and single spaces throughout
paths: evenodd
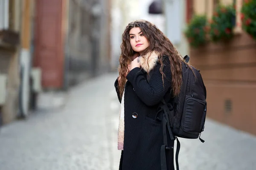
M 149 73 L 157 65 L 158 57 L 159 54 L 157 54 L 156 51 L 149 52 L 143 57 L 140 56 L 139 59 L 141 68 Z

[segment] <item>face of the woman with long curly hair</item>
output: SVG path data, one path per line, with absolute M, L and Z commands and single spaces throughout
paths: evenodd
M 143 32 L 140 30 L 139 27 L 131 28 L 129 35 L 131 48 L 134 51 L 140 53 L 148 48 L 149 42 L 147 38 L 143 35 Z

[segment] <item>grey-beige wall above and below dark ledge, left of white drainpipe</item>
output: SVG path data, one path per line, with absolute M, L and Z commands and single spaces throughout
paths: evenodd
M 23 3 L 20 0 L 9 0 L 9 31 L 15 31 L 20 36 Z M 19 45 L 6 48 L 0 43 L 0 73 L 7 77 L 6 102 L 3 105 L 3 124 L 12 122 L 17 117 L 19 107 Z

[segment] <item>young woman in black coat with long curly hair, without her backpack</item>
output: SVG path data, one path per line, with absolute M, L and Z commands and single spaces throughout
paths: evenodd
M 163 32 L 145 20 L 128 24 L 121 50 L 115 82 L 121 103 L 119 170 L 161 170 L 164 166 L 174 170 L 173 149 L 164 150 L 166 165 L 160 154 L 164 137 L 160 106 L 162 99 L 168 103 L 179 94 L 183 59 Z M 168 145 L 173 146 L 167 138 Z

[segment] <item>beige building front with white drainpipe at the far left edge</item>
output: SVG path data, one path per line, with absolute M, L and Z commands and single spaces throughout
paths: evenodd
M 0 119 L 26 116 L 30 108 L 33 0 L 0 1 Z

